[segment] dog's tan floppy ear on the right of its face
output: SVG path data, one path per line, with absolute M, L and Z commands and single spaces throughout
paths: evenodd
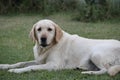
M 59 40 L 63 36 L 62 29 L 57 24 L 55 24 L 55 23 L 53 25 L 55 26 L 55 41 L 59 42 Z

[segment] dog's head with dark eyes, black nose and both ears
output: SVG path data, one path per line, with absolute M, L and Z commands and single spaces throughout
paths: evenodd
M 51 20 L 40 20 L 33 25 L 30 37 L 42 47 L 47 47 L 53 42 L 58 43 L 63 35 L 61 28 Z

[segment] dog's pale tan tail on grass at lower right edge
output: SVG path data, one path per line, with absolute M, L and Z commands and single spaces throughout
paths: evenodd
M 120 72 L 120 65 L 115 65 L 108 69 L 108 74 L 110 76 L 115 76 L 118 72 Z

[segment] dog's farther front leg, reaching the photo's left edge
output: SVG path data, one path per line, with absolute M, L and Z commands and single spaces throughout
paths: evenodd
M 13 69 L 18 67 L 24 67 L 29 65 L 37 65 L 35 61 L 26 61 L 26 62 L 18 62 L 15 64 L 0 64 L 0 69 Z

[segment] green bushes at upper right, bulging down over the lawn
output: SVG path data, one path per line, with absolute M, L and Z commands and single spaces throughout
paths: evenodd
M 82 15 L 77 11 L 78 15 L 74 19 L 80 21 L 102 21 L 115 16 L 120 16 L 120 0 L 85 0 L 86 6 L 83 7 Z

